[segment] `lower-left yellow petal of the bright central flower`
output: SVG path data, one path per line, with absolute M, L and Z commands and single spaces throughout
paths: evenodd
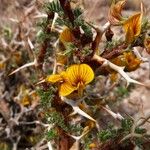
M 60 85 L 59 95 L 67 96 L 75 91 L 77 88 L 70 85 L 68 82 L 64 82 Z

